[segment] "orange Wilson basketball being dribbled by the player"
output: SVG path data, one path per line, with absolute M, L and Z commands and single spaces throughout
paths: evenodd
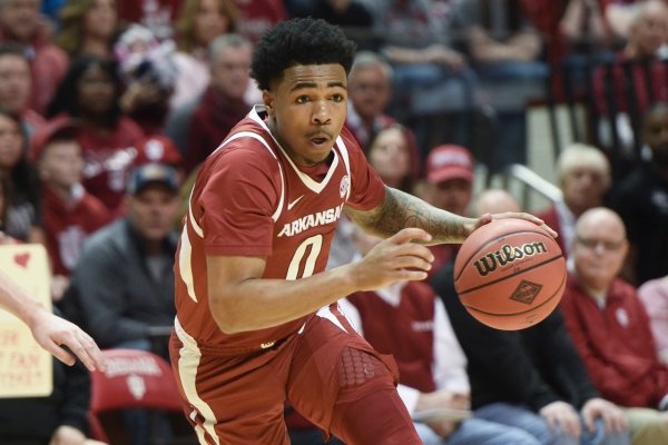
M 474 230 L 454 260 L 454 288 L 479 322 L 517 330 L 544 319 L 566 288 L 566 259 L 533 222 L 495 219 Z

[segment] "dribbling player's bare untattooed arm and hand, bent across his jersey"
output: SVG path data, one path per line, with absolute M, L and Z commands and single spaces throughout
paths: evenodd
M 209 309 L 224 333 L 262 329 L 312 314 L 355 291 L 426 278 L 430 237 L 411 228 L 376 245 L 358 263 L 306 278 L 263 278 L 265 259 L 207 256 Z

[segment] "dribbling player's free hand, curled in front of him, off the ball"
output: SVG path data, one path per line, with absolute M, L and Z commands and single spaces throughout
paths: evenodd
M 395 281 L 426 278 L 434 256 L 424 246 L 431 235 L 419 228 L 406 228 L 382 240 L 366 256 L 353 265 L 360 290 L 373 290 Z

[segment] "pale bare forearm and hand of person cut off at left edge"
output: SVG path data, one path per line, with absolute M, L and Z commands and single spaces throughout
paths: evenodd
M 62 348 L 61 345 L 65 345 L 89 370 L 105 370 L 102 354 L 88 334 L 70 322 L 47 312 L 2 273 L 0 306 L 28 325 L 37 343 L 60 362 L 70 366 L 75 364 L 75 356 Z

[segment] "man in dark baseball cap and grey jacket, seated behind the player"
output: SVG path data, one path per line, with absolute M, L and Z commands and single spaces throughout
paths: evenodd
M 80 296 L 84 324 L 101 347 L 149 348 L 149 328 L 174 323 L 178 189 L 173 167 L 135 167 L 127 182 L 125 217 L 85 245 L 72 286 Z M 167 357 L 166 345 L 160 346 Z

